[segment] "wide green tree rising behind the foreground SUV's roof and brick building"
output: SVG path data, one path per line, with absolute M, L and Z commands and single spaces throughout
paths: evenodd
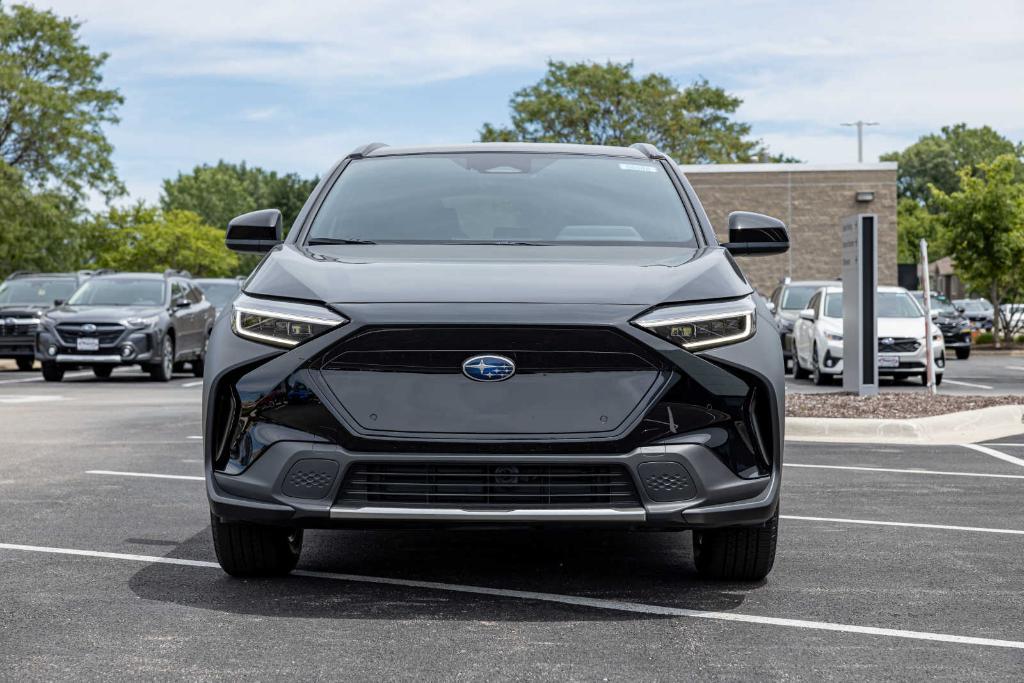
M 548 61 L 536 84 L 509 100 L 511 127 L 484 123 L 480 140 L 629 145 L 650 142 L 680 164 L 795 161 L 771 156 L 733 120 L 742 100 L 707 80 L 680 88 L 633 62 Z

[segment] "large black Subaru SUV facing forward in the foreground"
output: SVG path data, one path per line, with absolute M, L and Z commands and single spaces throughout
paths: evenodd
M 782 350 L 734 255 L 788 248 L 633 147 L 360 147 L 210 339 L 204 446 L 230 574 L 290 571 L 309 527 L 693 531 L 708 577 L 771 569 Z

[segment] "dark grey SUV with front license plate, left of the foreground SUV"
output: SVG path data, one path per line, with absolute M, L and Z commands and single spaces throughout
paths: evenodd
M 186 272 L 97 275 L 42 315 L 36 358 L 49 382 L 83 366 L 98 378 L 117 366 L 141 366 L 166 382 L 190 362 L 201 377 L 214 317 Z

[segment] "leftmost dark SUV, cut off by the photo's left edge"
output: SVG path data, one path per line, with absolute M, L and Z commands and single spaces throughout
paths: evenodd
M 0 358 L 13 358 L 18 370 L 32 370 L 39 316 L 95 272 L 14 272 L 0 283 Z

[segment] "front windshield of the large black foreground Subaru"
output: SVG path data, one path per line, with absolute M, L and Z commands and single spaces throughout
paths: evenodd
M 660 164 L 523 153 L 353 161 L 306 240 L 332 241 L 697 246 Z

